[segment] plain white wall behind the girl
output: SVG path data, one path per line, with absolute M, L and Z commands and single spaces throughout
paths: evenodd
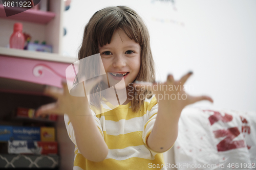
M 189 94 L 208 94 L 215 101 L 195 106 L 256 110 L 256 1 L 174 2 L 73 0 L 64 12 L 63 55 L 77 56 L 84 26 L 96 11 L 126 5 L 150 31 L 157 80 L 164 81 L 169 72 L 179 79 L 193 70 Z

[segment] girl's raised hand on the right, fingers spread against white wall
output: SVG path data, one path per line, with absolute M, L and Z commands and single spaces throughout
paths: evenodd
M 156 94 L 155 96 L 159 106 L 170 107 L 179 112 L 181 112 L 185 106 L 202 100 L 207 100 L 213 103 L 214 101 L 209 96 L 192 96 L 184 91 L 184 84 L 192 74 L 193 72 L 189 71 L 178 81 L 174 80 L 173 75 L 168 75 L 167 80 L 164 83 L 135 82 L 134 87 L 151 90 Z

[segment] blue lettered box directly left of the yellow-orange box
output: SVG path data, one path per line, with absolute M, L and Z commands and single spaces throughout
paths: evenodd
M 14 140 L 40 140 L 40 127 L 12 127 Z

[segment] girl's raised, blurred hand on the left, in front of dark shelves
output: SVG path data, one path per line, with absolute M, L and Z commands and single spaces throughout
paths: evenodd
M 97 77 L 93 80 L 88 81 L 86 84 L 87 89 L 91 91 L 91 89 L 101 81 L 101 77 Z M 62 88 L 57 88 L 53 86 L 47 86 L 45 88 L 44 93 L 46 95 L 52 96 L 52 98 L 56 99 L 56 103 L 47 104 L 41 106 L 36 111 L 36 117 L 41 114 L 68 114 L 68 115 L 86 115 L 90 113 L 85 113 L 86 107 L 89 106 L 89 101 L 87 96 L 77 97 L 72 96 L 69 93 L 68 85 L 66 80 L 62 81 Z M 84 94 L 86 92 L 84 91 Z

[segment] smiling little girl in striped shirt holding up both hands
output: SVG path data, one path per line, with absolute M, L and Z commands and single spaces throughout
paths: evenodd
M 82 60 L 96 54 L 108 79 L 97 77 L 83 84 L 95 95 L 89 99 L 72 96 L 67 83 L 62 82 L 63 89 L 45 90 L 57 102 L 42 106 L 37 115 L 66 113 L 68 135 L 75 144 L 74 169 L 166 169 L 162 153 L 175 143 L 182 109 L 212 99 L 183 90 L 192 72 L 178 81 L 168 75 L 166 82 L 155 83 L 150 36 L 131 8 L 107 7 L 92 16 L 78 57 Z M 109 101 L 118 99 L 123 88 L 115 86 L 114 94 L 106 91 L 96 95 L 95 90 L 111 88 L 110 80 L 120 77 L 126 101 L 117 107 Z

